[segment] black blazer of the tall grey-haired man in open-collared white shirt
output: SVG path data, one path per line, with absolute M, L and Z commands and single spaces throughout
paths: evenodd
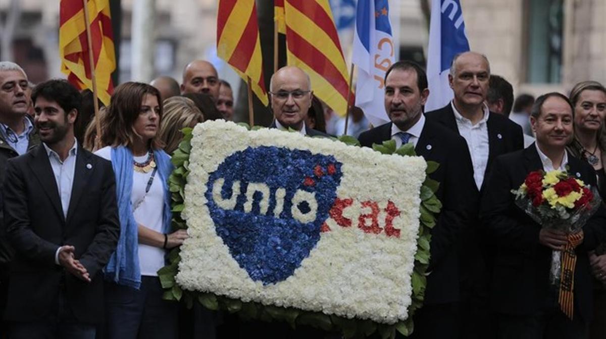
M 428 120 L 442 124 L 459 134 L 459 127 L 456 124 L 454 111 L 450 102 L 441 109 L 425 113 L 425 117 Z M 490 112 L 486 124 L 488 127 L 488 161 L 486 164 L 486 171 L 484 172 L 482 187 L 484 187 L 486 178 L 488 178 L 488 173 L 492 169 L 494 158 L 501 154 L 524 149 L 522 127 L 508 119 L 506 116 Z

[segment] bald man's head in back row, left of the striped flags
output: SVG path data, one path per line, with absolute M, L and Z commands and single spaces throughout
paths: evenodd
M 213 97 L 215 104 L 219 100 L 219 76 L 215 66 L 208 61 L 191 61 L 183 70 L 181 94 L 205 93 Z

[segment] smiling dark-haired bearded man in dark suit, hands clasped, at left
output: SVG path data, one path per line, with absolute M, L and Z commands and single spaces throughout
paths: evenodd
M 2 188 L 16 250 L 4 317 L 11 338 L 95 338 L 101 269 L 120 233 L 115 176 L 74 137 L 78 90 L 50 80 L 32 99 L 42 146 L 8 161 Z

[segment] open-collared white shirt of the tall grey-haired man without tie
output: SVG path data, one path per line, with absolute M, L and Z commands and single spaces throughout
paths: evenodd
M 488 164 L 488 152 L 490 150 L 488 141 L 488 116 L 489 110 L 484 105 L 484 116 L 478 123 L 471 124 L 471 120 L 465 118 L 454 107 L 454 102 L 450 102 L 453 108 L 454 119 L 456 126 L 459 127 L 459 134 L 467 141 L 467 147 L 471 155 L 471 163 L 473 164 L 473 179 L 476 181 L 478 189 L 482 187 L 484 181 L 484 173 Z

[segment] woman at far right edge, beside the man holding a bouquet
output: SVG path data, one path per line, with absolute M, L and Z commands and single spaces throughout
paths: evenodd
M 606 201 L 606 88 L 596 81 L 579 82 L 570 91 L 570 101 L 574 106 L 574 139 L 568 151 L 593 166 L 599 194 Z M 589 260 L 596 278 L 589 338 L 606 338 L 606 243 L 590 253 Z

